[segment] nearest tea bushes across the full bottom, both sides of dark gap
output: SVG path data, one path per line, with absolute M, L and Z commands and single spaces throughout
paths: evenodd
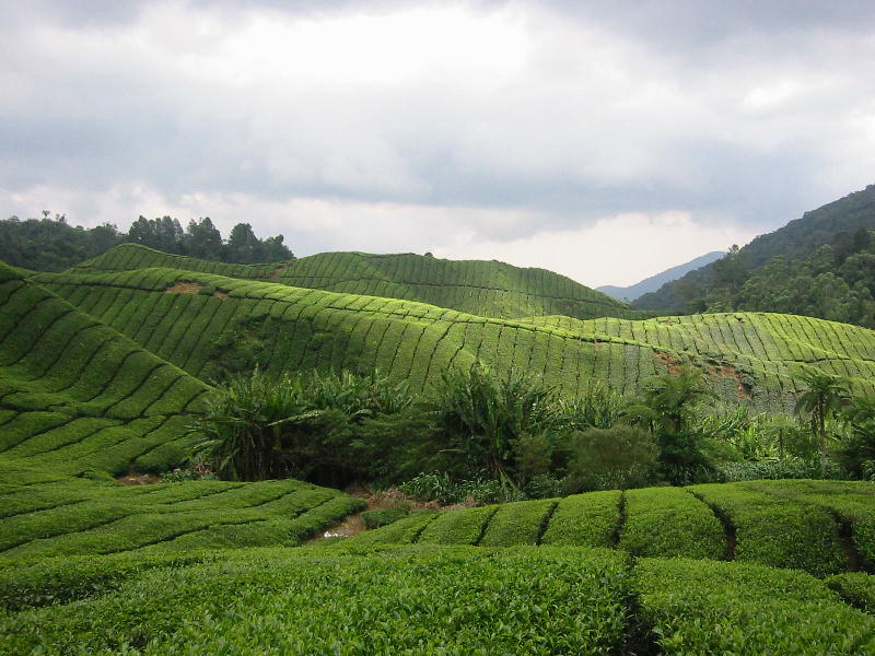
M 129 553 L 0 567 L 0 654 L 872 654 L 875 618 L 842 599 L 607 549 Z

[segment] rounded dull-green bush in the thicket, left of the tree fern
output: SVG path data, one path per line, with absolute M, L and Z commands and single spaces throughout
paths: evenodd
M 653 483 L 660 447 L 642 429 L 590 429 L 572 438 L 565 491 L 625 490 Z

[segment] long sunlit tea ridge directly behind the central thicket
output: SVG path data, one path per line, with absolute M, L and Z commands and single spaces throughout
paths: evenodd
M 800 375 L 814 368 L 875 390 L 875 333 L 805 317 L 510 320 L 161 268 L 36 280 L 200 379 L 253 363 L 270 374 L 378 367 L 416 390 L 479 360 L 542 376 L 573 396 L 595 379 L 632 393 L 651 375 L 692 363 L 710 372 L 725 400 L 762 410 L 791 409 Z

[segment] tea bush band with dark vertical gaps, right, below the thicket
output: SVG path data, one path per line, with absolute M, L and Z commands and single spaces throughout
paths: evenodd
M 874 522 L 875 483 L 758 481 L 413 515 L 350 544 L 614 547 L 642 558 L 735 560 L 824 576 L 872 567 Z

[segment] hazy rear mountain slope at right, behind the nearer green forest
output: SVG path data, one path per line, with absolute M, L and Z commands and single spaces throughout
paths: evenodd
M 632 303 L 632 307 L 654 312 L 702 312 L 719 288 L 726 286 L 726 278 L 735 277 L 735 281 L 730 281 L 730 286 L 734 282 L 743 283 L 751 273 L 762 270 L 766 263 L 773 262 L 773 258 L 778 256 L 782 256 L 788 262 L 797 262 L 815 256 L 825 245 L 835 245 L 837 238 L 847 239 L 861 229 L 875 230 L 875 185 L 805 212 L 801 219 L 756 237 L 740 248 L 737 257 L 731 258 L 732 261 L 722 258 L 693 269 L 657 291 L 640 296 Z M 819 270 L 814 274 L 822 272 Z M 837 270 L 836 276 L 841 277 L 841 273 Z M 875 286 L 875 282 L 872 286 Z M 730 295 L 737 296 L 737 289 L 733 290 Z M 754 309 L 744 302 L 736 305 L 732 309 Z M 723 309 L 730 307 L 724 305 Z M 795 307 L 769 307 L 769 311 L 807 314 Z

